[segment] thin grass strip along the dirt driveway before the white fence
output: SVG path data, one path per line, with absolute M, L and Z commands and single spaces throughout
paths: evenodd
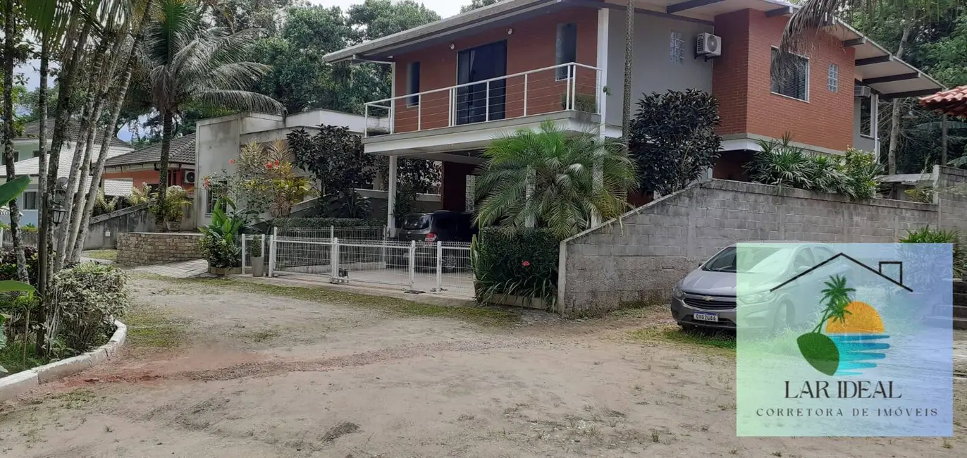
M 145 278 L 163 280 L 175 283 L 188 283 L 194 286 L 231 287 L 233 291 L 268 296 L 278 296 L 299 301 L 322 303 L 337 303 L 385 310 L 401 315 L 453 318 L 474 323 L 481 326 L 500 327 L 517 323 L 519 315 L 505 310 L 485 307 L 457 307 L 448 305 L 434 305 L 429 303 L 407 301 L 383 296 L 368 296 L 326 288 L 307 288 L 301 286 L 270 285 L 235 278 L 172 278 L 162 275 L 139 275 Z

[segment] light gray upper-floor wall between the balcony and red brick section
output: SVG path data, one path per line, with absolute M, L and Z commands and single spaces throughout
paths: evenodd
M 671 31 L 682 32 L 685 40 L 685 62 L 671 62 L 668 43 Z M 648 14 L 634 16 L 634 75 L 631 84 L 632 104 L 641 93 L 681 91 L 694 88 L 712 92 L 712 61 L 695 59 L 695 36 L 712 33 L 711 25 L 680 19 L 656 17 Z M 607 100 L 605 122 L 621 126 L 622 99 L 625 80 L 625 12 L 608 13 Z M 631 110 L 633 112 L 634 106 Z

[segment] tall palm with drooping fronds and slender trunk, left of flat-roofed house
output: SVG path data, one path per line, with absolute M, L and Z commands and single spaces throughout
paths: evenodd
M 256 29 L 230 32 L 208 27 L 204 8 L 196 0 L 160 0 L 145 31 L 140 63 L 161 114 L 159 199 L 168 180 L 168 157 L 174 118 L 189 103 L 280 113 L 281 103 L 246 89 L 269 66 L 246 62 Z

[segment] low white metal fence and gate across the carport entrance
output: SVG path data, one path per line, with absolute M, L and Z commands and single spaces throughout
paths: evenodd
M 332 283 L 474 296 L 470 243 L 400 242 L 383 233 L 382 227 L 278 228 L 264 238 L 263 262 L 269 276 L 315 275 Z M 250 272 L 246 267 L 250 269 L 252 245 L 257 244 L 257 236 L 252 237 L 243 238 L 243 272 Z

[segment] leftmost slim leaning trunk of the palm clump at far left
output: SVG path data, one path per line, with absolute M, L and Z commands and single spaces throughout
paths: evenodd
M 9 1 L 9 0 L 8 0 Z M 76 13 L 74 10 L 73 13 Z M 77 74 L 78 62 L 83 58 L 84 53 L 84 43 L 87 43 L 87 38 L 91 33 L 91 22 L 85 21 L 83 28 L 79 32 L 75 30 L 76 24 L 71 28 L 68 33 L 67 40 L 65 43 L 75 43 L 73 51 L 70 53 L 71 57 L 67 60 L 67 65 L 65 65 L 60 72 L 60 79 L 58 80 L 58 92 L 57 92 L 57 107 L 54 109 L 54 130 L 53 138 L 50 143 L 50 155 L 47 158 L 47 179 L 46 179 L 46 189 L 41 193 L 44 212 L 41 218 L 41 230 L 39 234 L 39 241 L 37 244 L 38 249 L 38 295 L 41 298 L 41 306 L 39 307 L 37 323 L 40 325 L 37 329 L 37 338 L 35 339 L 37 347 L 37 356 L 44 357 L 47 354 L 48 341 L 46 339 L 46 329 L 49 323 L 56 318 L 54 313 L 47 313 L 48 311 L 53 311 L 54 302 L 47 297 L 47 290 L 50 282 L 50 277 L 53 275 L 53 259 L 51 259 L 54 249 L 53 249 L 53 218 L 50 215 L 50 209 L 53 206 L 53 196 L 57 184 L 57 173 L 60 163 L 60 150 L 64 145 L 64 134 L 66 133 L 67 123 L 70 119 L 70 108 L 71 108 L 71 93 L 73 92 L 73 81 Z M 76 41 L 75 41 L 76 39 Z

